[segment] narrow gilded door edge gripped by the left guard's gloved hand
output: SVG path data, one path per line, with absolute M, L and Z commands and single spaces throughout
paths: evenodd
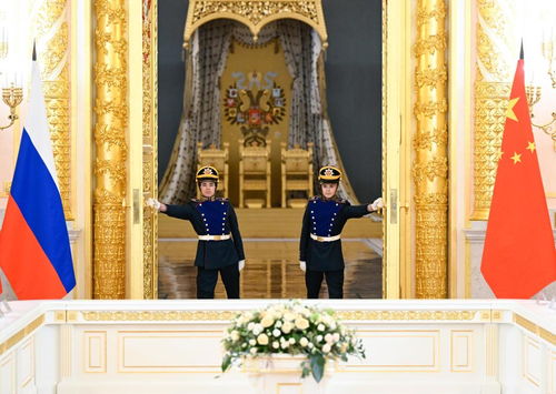
M 143 0 L 142 14 L 142 184 L 146 198 L 158 194 L 157 180 L 157 0 Z M 153 210 L 143 209 L 143 297 L 158 296 L 158 220 Z

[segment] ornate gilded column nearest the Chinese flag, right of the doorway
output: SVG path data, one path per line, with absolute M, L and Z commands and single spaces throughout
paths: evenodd
M 447 69 L 445 0 L 418 0 L 414 139 L 416 295 L 447 296 Z

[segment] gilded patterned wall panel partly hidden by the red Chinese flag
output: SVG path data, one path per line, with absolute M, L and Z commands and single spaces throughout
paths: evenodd
M 475 81 L 474 211 L 487 220 L 498 166 L 498 151 L 517 59 L 512 0 L 477 0 L 477 63 Z

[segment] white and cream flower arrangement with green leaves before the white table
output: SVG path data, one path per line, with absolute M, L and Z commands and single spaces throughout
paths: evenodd
M 222 372 L 246 357 L 300 354 L 307 356 L 300 365 L 301 376 L 312 374 L 320 382 L 327 361 L 347 361 L 348 355 L 365 358 L 361 341 L 335 317 L 334 311 L 297 301 L 238 314 L 222 343 Z

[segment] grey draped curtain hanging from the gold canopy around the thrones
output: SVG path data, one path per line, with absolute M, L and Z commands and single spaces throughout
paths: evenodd
M 322 48 L 318 34 L 307 24 L 279 20 L 259 33 L 257 43 L 279 38 L 286 64 L 294 79 L 288 145 L 314 143 L 314 166 L 331 164 L 344 172 L 338 194 L 357 203 L 344 171 L 326 113 Z M 226 65 L 231 39 L 254 44 L 245 26 L 218 20 L 201 26 L 187 54 L 183 109 L 170 162 L 160 185 L 160 200 L 179 204 L 195 195 L 197 143 L 220 145 L 221 113 L 218 81 Z M 318 189 L 315 189 L 318 190 Z

